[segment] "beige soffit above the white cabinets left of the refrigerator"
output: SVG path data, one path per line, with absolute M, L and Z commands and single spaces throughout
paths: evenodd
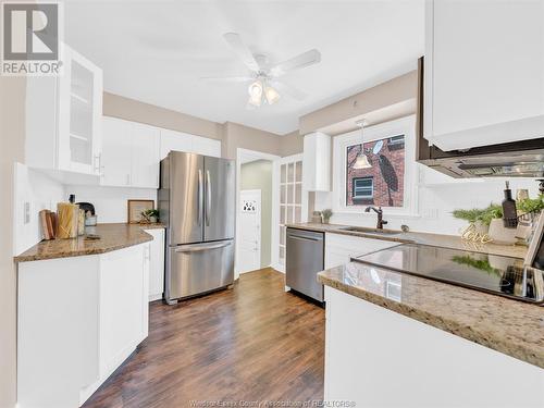
M 223 125 L 182 112 L 103 92 L 103 114 L 191 135 L 221 139 Z

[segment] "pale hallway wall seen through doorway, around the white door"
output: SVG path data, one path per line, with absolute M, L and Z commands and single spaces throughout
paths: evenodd
M 272 262 L 272 162 L 257 160 L 240 166 L 240 189 L 261 190 L 261 268 Z

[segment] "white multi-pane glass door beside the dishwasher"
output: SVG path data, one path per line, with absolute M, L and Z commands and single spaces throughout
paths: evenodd
M 285 224 L 302 222 L 304 202 L 302 161 L 293 159 L 280 165 L 280 265 L 285 264 Z

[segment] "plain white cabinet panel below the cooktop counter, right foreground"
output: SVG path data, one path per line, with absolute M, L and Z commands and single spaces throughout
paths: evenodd
M 330 286 L 325 301 L 324 406 L 544 406 L 536 366 Z

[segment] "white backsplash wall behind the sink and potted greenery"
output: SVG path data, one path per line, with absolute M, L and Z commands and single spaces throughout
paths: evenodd
M 434 172 L 424 168 L 420 171 Z M 528 188 L 531 197 L 535 197 L 539 193 L 537 183 L 533 178 L 508 180 L 514 195 L 518 188 Z M 406 224 L 412 231 L 457 235 L 467 222 L 454 219 L 452 211 L 458 208 L 483 208 L 491 202 L 500 203 L 504 198 L 504 178 L 455 181 L 429 186 L 418 181 L 418 210 L 416 212 L 419 217 L 387 214 L 385 209 L 384 220 L 388 221 L 386 227 L 398 230 L 400 225 Z M 316 210 L 332 208 L 332 193 L 316 193 Z M 331 223 L 374 227 L 375 213 L 364 213 L 363 209 L 361 207 L 360 213 L 335 213 L 331 218 Z

